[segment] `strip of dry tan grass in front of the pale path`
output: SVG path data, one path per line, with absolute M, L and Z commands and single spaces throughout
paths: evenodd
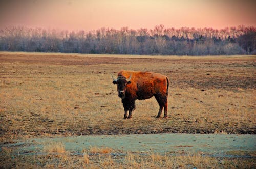
M 15 148 L 2 147 L 0 166 L 3 168 L 254 168 L 256 166 L 253 158 L 214 158 L 200 153 L 185 152 L 176 152 L 173 155 L 173 152 L 159 154 L 112 150 L 113 153 L 91 154 L 91 150 L 83 150 L 81 155 L 65 151 L 65 156 L 58 156 L 53 153 L 57 150 L 53 151 L 49 147 L 62 149 L 60 143 L 55 143 L 47 148 L 44 147 L 41 150 L 44 154 L 20 155 L 15 153 Z M 118 155 L 120 153 L 124 155 Z

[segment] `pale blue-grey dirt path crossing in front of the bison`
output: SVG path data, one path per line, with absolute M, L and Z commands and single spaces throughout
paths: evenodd
M 93 146 L 109 147 L 120 152 L 202 152 L 217 157 L 232 157 L 230 151 L 256 151 L 256 135 L 234 134 L 142 134 L 99 135 L 36 138 L 25 142 L 2 144 L 0 147 L 17 147 L 19 154 L 40 153 L 44 145 L 62 142 L 65 149 L 79 154 Z M 240 156 L 236 156 L 240 157 Z M 246 156 L 241 156 L 246 158 Z

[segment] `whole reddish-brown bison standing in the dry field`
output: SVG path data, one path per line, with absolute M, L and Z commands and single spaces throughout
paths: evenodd
M 122 99 L 124 119 L 132 118 L 132 111 L 135 109 L 135 100 L 149 99 L 153 96 L 155 96 L 160 107 L 157 118 L 161 116 L 163 108 L 164 118 L 167 118 L 169 87 L 167 76 L 152 72 L 122 70 L 118 73 L 117 79 L 113 75 L 112 78 L 113 84 L 117 84 L 118 97 Z M 128 117 L 127 111 L 129 111 Z

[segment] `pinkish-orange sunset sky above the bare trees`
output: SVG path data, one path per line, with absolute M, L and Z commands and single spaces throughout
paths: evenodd
M 0 2 L 0 29 L 9 25 L 62 30 L 256 26 L 253 0 L 10 0 Z

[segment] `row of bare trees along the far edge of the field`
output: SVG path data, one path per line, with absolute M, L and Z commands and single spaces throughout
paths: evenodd
M 0 50 L 147 55 L 231 55 L 256 53 L 256 28 L 188 27 L 120 30 L 102 27 L 85 32 L 8 26 L 0 30 Z

